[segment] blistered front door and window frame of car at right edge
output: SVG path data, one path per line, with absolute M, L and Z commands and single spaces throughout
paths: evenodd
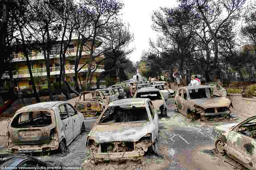
M 251 120 L 255 120 L 255 119 L 256 119 L 256 116 L 252 116 L 251 118 L 248 118 L 248 119 L 244 120 L 243 122 L 241 122 L 240 124 L 235 126 L 228 133 L 228 136 L 227 136 L 227 146 L 226 146 L 227 155 L 230 156 L 231 158 L 233 158 L 234 160 L 240 162 L 241 164 L 243 164 L 248 169 L 251 169 L 251 168 L 255 169 L 256 168 L 256 163 L 254 163 L 255 158 L 256 158 L 256 153 L 254 152 L 251 155 L 247 154 L 246 150 L 242 149 L 242 148 L 245 148 L 245 146 L 242 146 L 242 143 L 244 143 L 244 141 L 247 141 L 248 143 L 251 144 L 251 141 L 253 141 L 256 144 L 256 140 L 249 137 L 249 136 L 246 136 L 242 133 L 239 133 L 238 129 L 241 126 L 243 126 L 244 124 L 250 122 Z M 232 140 L 234 138 L 236 138 L 236 141 Z M 238 139 L 238 138 L 241 138 L 241 139 Z M 241 141 L 243 141 L 243 142 L 241 142 Z M 239 145 L 239 146 L 237 147 L 237 146 L 235 146 L 235 144 Z M 243 156 L 240 156 L 240 155 L 243 155 Z M 241 158 L 241 159 L 239 159 L 239 158 Z M 248 162 L 248 163 L 246 163 L 246 162 Z M 250 164 L 252 164 L 252 165 L 250 165 Z

